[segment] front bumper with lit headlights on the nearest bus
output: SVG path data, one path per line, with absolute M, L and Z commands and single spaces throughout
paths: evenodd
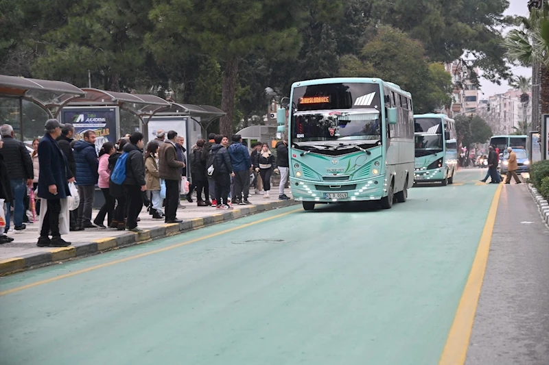
M 290 189 L 296 201 L 314 203 L 340 203 L 344 201 L 372 201 L 382 199 L 385 191 L 385 175 L 357 181 L 306 181 L 290 177 Z

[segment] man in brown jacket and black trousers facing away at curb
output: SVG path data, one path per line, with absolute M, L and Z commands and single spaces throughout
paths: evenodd
M 177 158 L 177 132 L 167 132 L 167 140 L 159 147 L 159 175 L 166 183 L 166 218 L 165 223 L 183 222 L 177 219 L 179 205 L 179 187 L 181 185 L 181 169 L 185 162 Z

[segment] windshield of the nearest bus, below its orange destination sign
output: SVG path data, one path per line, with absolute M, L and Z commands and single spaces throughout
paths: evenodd
M 297 112 L 292 118 L 292 142 L 381 139 L 377 110 Z

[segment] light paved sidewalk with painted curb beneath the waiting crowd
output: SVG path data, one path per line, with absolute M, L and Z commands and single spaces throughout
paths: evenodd
M 286 194 L 291 198 L 289 190 L 286 190 Z M 87 228 L 84 231 L 70 232 L 63 235 L 62 237 L 65 240 L 71 242 L 71 246 L 62 248 L 36 246 L 39 219 L 37 216 L 36 223 L 27 224 L 25 230 L 8 232 L 8 236 L 14 238 L 14 241 L 0 245 L 0 275 L 51 264 L 60 260 L 68 260 L 73 257 L 128 247 L 148 240 L 183 233 L 204 225 L 221 223 L 249 214 L 295 204 L 293 199 L 280 201 L 274 194 L 271 194 L 270 199 L 264 199 L 263 195 L 252 194 L 249 200 L 253 205 L 233 205 L 232 210 L 198 207 L 196 199 L 194 199 L 194 203 L 182 200 L 181 204 L 185 208 L 178 209 L 177 218 L 183 220 L 183 223 L 178 224 L 166 224 L 163 219 L 152 219 L 152 216 L 143 207 L 141 214 L 139 214 L 141 221 L 138 226 L 145 231 L 136 234 L 127 230 L 117 231 L 113 228 Z M 95 218 L 97 212 L 98 210 L 93 210 L 93 218 Z

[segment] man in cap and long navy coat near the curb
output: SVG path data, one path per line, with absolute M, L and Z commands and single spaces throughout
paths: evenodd
M 74 177 L 67 179 L 67 158 L 56 141 L 63 127 L 65 125 L 56 119 L 49 119 L 45 125 L 46 134 L 38 143 L 38 197 L 47 199 L 47 211 L 42 217 L 42 229 L 36 244 L 38 247 L 67 247 L 71 244 L 63 240 L 59 233 L 61 199 L 71 194 L 68 183 L 74 181 Z

